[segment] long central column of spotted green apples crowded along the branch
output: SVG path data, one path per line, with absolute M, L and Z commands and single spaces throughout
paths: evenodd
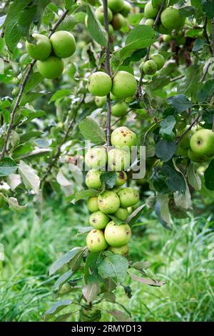
M 86 237 L 86 244 L 91 252 L 109 249 L 120 255 L 128 253 L 131 228 L 126 219 L 138 203 L 139 194 L 136 189 L 126 187 L 125 170 L 130 166 L 130 149 L 136 146 L 136 140 L 131 129 L 118 127 L 111 134 L 113 148 L 107 152 L 105 147 L 93 147 L 86 153 L 85 162 L 90 169 L 86 174 L 86 186 L 100 191 L 87 202 L 88 210 L 92 212 L 89 222 L 93 229 Z M 101 175 L 106 168 L 116 172 L 116 182 L 111 189 L 103 189 Z M 115 217 L 121 224 L 116 223 Z

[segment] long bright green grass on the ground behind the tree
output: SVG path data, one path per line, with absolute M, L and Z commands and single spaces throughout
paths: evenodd
M 88 225 L 87 220 L 85 207 L 58 207 L 51 201 L 45 204 L 41 220 L 31 207 L 18 215 L 1 210 L 0 242 L 5 252 L 5 261 L 0 262 L 1 321 L 42 320 L 55 302 L 51 287 L 56 277 L 48 276 L 49 266 L 61 253 L 84 244 L 84 237 L 75 234 Z M 214 242 L 213 219 L 208 215 L 179 219 L 168 232 L 151 214 L 133 232 L 131 260 L 151 262 L 151 275 L 167 282 L 157 288 L 126 280 L 131 299 L 122 287 L 117 290 L 133 320 L 213 321 L 213 261 L 208 258 Z M 110 307 L 104 303 L 101 309 Z M 73 315 L 71 320 L 77 318 Z M 103 312 L 102 320 L 112 317 Z

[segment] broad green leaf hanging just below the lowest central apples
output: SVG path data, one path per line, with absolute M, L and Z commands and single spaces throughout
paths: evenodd
M 128 261 L 121 255 L 108 255 L 100 265 L 98 265 L 98 272 L 103 279 L 112 277 L 117 282 L 122 282 L 126 277 L 128 270 Z

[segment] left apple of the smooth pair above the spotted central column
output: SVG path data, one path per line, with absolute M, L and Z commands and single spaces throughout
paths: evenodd
M 94 96 L 107 96 L 111 91 L 111 77 L 103 71 L 96 71 L 88 78 L 88 91 Z

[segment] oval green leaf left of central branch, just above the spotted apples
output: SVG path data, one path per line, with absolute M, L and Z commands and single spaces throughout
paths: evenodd
M 86 140 L 91 140 L 93 144 L 106 143 L 106 133 L 91 117 L 86 117 L 79 125 L 81 134 Z

